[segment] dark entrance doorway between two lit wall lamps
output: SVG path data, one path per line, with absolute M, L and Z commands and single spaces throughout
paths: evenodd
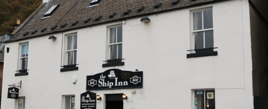
M 119 94 L 106 94 L 105 109 L 123 109 L 122 93 Z

